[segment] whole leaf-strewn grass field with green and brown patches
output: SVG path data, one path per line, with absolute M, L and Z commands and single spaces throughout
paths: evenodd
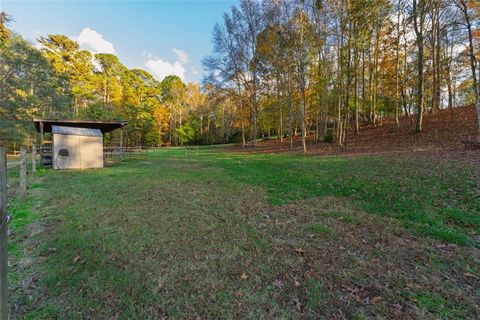
M 165 149 L 44 171 L 17 209 L 17 318 L 480 317 L 478 176 L 415 156 Z

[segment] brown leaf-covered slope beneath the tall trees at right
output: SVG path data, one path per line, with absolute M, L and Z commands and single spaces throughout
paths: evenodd
M 435 156 L 461 157 L 478 160 L 478 151 L 465 150 L 463 141 L 475 135 L 475 110 L 460 107 L 438 111 L 424 117 L 423 132 L 415 133 L 414 116 L 401 117 L 397 127 L 392 120 L 382 125 L 363 125 L 360 133 L 350 132 L 346 149 L 334 143 L 315 142 L 309 137 L 308 153 L 314 155 L 371 155 L 395 153 L 423 153 Z M 301 152 L 301 139 L 295 137 L 293 148 L 288 138 L 259 142 L 257 147 L 242 148 L 237 145 L 231 151 L 241 152 Z

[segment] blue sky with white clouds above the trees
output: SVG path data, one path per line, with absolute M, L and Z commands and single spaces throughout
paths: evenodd
M 65 34 L 93 52 L 114 53 L 128 68 L 158 79 L 175 73 L 199 82 L 211 33 L 234 0 L 217 1 L 12 1 L 0 10 L 26 39 Z

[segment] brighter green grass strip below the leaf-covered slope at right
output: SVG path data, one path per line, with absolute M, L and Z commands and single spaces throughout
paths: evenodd
M 399 219 L 412 231 L 461 245 L 480 232 L 473 168 L 431 159 L 255 155 L 213 161 L 242 182 L 262 186 L 273 204 L 348 197 L 369 213 Z

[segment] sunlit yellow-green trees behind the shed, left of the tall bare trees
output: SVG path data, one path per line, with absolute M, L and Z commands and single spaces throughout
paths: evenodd
M 113 54 L 82 50 L 61 34 L 42 36 L 33 45 L 11 23 L 1 12 L 0 145 L 28 144 L 35 117 L 128 120 L 126 145 L 221 143 L 231 136 L 221 127 L 228 101 L 207 99 L 200 85 L 174 75 L 158 81 L 145 70 L 128 69 Z M 108 143 L 110 136 L 105 138 Z

